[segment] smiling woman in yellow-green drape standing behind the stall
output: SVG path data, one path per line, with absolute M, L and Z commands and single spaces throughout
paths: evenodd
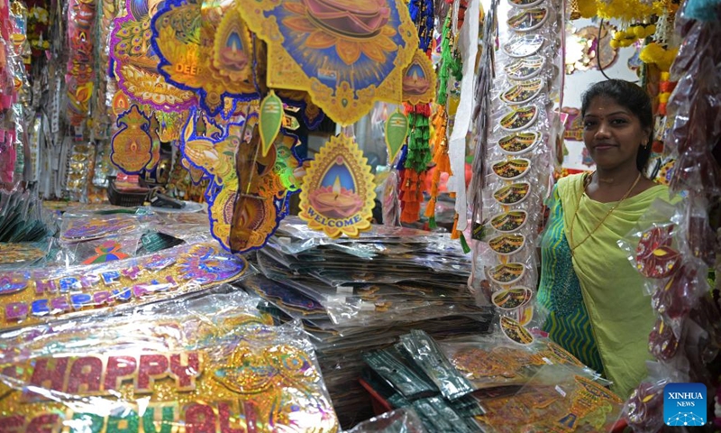
M 653 142 L 651 100 L 611 79 L 582 97 L 583 143 L 591 174 L 559 180 L 543 235 L 538 291 L 544 330 L 627 397 L 646 375 L 654 315 L 641 274 L 617 241 L 668 189 L 643 175 Z

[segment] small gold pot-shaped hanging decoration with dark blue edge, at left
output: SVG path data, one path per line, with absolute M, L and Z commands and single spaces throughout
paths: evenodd
M 118 117 L 120 129 L 110 142 L 110 161 L 128 174 L 137 174 L 153 157 L 151 119 L 141 113 L 138 106 Z

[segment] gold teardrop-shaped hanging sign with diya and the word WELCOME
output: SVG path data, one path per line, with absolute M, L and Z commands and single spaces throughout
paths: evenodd
M 373 176 L 358 144 L 336 135 L 308 167 L 299 217 L 333 238 L 357 237 L 370 229 L 375 198 Z

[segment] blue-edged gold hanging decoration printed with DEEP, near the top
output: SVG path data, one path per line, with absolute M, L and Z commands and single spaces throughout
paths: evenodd
M 234 2 L 203 8 L 201 3 L 166 1 L 152 18 L 152 47 L 160 74 L 178 88 L 197 92 L 200 106 L 218 115 L 225 97 L 260 98 L 253 63 L 265 53 L 261 44 L 252 43 Z M 256 66 L 260 69 L 260 63 Z

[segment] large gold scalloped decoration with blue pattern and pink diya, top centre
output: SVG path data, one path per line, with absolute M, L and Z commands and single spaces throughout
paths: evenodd
M 419 43 L 402 0 L 257 0 L 237 7 L 268 44 L 270 88 L 307 91 L 339 124 L 358 121 L 375 101 L 401 100 L 403 70 Z

